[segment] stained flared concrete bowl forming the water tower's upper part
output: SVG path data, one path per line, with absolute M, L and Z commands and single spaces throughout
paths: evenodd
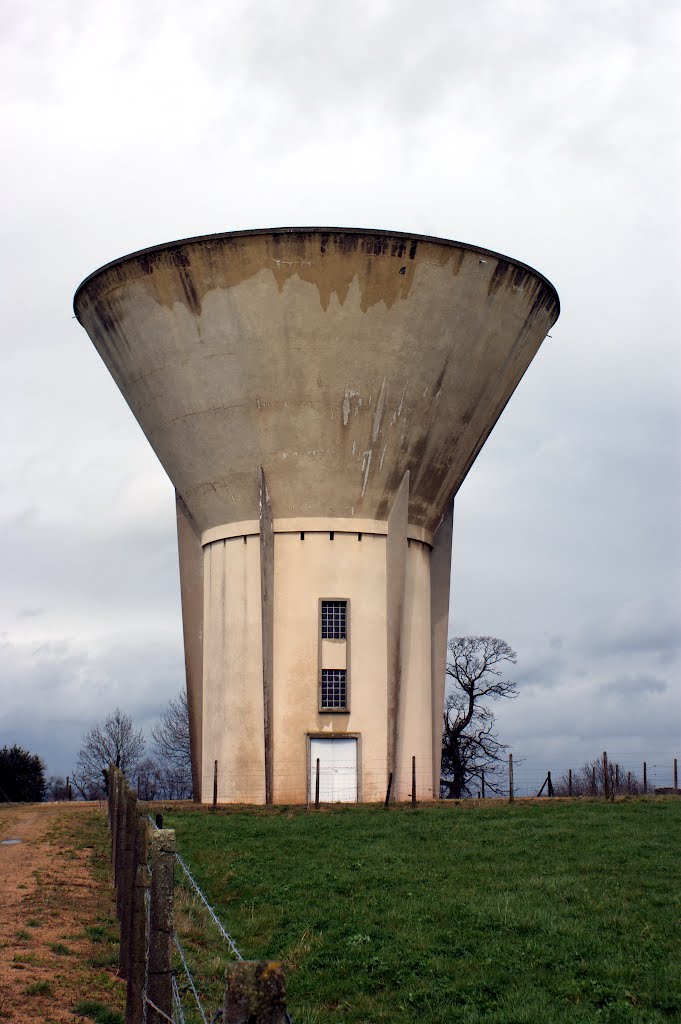
M 212 236 L 110 264 L 80 323 L 198 527 L 383 520 L 407 470 L 433 530 L 558 314 L 538 273 L 352 230 Z

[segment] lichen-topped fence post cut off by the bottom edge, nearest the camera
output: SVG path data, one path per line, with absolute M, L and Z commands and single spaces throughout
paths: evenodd
M 285 1024 L 286 985 L 281 964 L 229 964 L 224 980 L 222 1024 Z

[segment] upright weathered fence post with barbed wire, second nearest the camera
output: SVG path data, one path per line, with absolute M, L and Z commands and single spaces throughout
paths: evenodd
M 159 1010 L 172 1016 L 173 867 L 175 833 L 159 828 L 152 833 L 152 891 L 150 901 L 148 967 L 146 994 Z M 147 1024 L 163 1024 L 147 1006 Z

